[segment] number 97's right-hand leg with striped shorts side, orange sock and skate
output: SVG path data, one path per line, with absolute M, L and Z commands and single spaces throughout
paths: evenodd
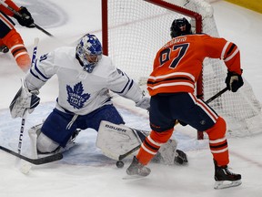
M 188 110 L 191 115 L 187 116 L 187 119 L 183 117 L 181 119 L 196 128 L 196 130 L 205 130 L 207 132 L 209 148 L 215 163 L 215 189 L 241 184 L 241 175 L 232 173 L 227 169 L 229 154 L 226 137 L 226 121 L 222 117 L 217 116 L 217 113 L 201 99 L 196 99 L 192 94 L 188 95 L 193 103 L 195 103 L 195 106 Z M 224 184 L 223 181 L 231 182 L 229 184 Z

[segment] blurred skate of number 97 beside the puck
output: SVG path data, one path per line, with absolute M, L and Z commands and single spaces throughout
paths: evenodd
M 126 173 L 132 176 L 138 175 L 140 177 L 146 177 L 150 172 L 151 170 L 149 168 L 137 161 L 136 156 L 134 156 L 132 163 L 126 169 Z

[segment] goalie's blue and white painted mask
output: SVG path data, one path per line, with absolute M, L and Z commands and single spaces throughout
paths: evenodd
M 92 73 L 102 57 L 102 46 L 95 35 L 86 34 L 76 47 L 76 58 L 88 73 Z

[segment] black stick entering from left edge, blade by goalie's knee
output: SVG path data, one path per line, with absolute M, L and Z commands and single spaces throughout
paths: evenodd
M 63 159 L 62 153 L 56 153 L 54 155 L 50 155 L 50 156 L 38 158 L 38 159 L 30 159 L 30 158 L 27 158 L 24 155 L 21 155 L 21 154 L 15 152 L 13 150 L 6 149 L 3 146 L 0 146 L 0 150 L 4 150 L 5 152 L 12 154 L 19 159 L 22 159 L 24 161 L 28 161 L 28 162 L 33 163 L 35 165 L 41 165 L 41 164 L 45 164 L 45 163 L 49 163 L 49 162 L 53 162 L 53 161 L 59 161 L 59 160 Z

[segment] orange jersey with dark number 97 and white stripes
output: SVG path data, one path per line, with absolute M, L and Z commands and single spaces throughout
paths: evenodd
M 240 53 L 234 43 L 207 35 L 177 36 L 156 54 L 147 80 L 150 96 L 158 93 L 194 93 L 206 57 L 223 59 L 228 70 L 241 75 Z

